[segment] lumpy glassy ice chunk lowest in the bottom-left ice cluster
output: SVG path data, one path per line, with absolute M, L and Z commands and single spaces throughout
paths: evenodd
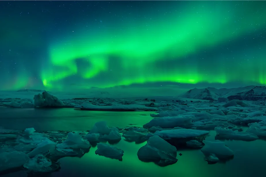
M 59 163 L 52 162 L 47 157 L 39 154 L 25 163 L 24 167 L 27 168 L 27 173 L 30 174 L 46 173 L 57 170 L 59 168 Z

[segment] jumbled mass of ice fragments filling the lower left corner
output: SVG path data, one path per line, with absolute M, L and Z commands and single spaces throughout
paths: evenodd
M 30 176 L 53 172 L 60 168 L 56 162 L 58 159 L 80 157 L 91 147 L 87 140 L 72 132 L 67 137 L 59 132 L 35 132 L 34 128 L 27 128 L 24 132 L 1 129 L 0 133 L 5 137 L 1 141 L 0 173 L 23 167 Z M 56 141 L 51 141 L 52 137 L 56 137 Z

